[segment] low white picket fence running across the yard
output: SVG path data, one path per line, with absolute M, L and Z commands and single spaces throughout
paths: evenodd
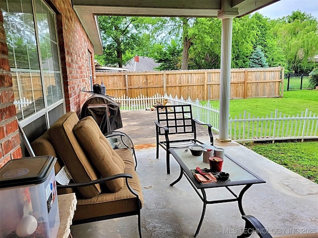
M 157 94 L 153 97 L 139 96 L 137 98 L 114 98 L 121 104 L 121 110 L 146 110 L 168 99 L 172 105 L 191 104 L 193 118 L 209 123 L 212 129 L 219 132 L 220 112 L 214 108 L 210 101 L 201 105 L 197 99 L 177 98 L 171 95 Z M 266 140 L 293 140 L 293 139 L 317 139 L 318 115 L 306 109 L 300 115 L 286 116 L 278 113 L 278 110 L 265 117 L 256 117 L 247 114 L 246 111 L 239 117 L 229 120 L 229 137 L 235 141 L 266 141 Z

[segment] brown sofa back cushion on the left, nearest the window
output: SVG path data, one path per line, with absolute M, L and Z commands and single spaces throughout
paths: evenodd
M 48 130 L 48 134 L 60 158 L 70 171 L 75 182 L 98 179 L 97 174 L 85 155 L 73 132 L 79 118 L 75 112 L 69 112 L 58 119 Z M 101 192 L 99 184 L 79 188 L 84 198 L 91 198 Z

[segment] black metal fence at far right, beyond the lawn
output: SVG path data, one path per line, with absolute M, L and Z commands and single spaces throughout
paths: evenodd
M 284 91 L 314 88 L 308 73 L 287 73 L 284 81 Z

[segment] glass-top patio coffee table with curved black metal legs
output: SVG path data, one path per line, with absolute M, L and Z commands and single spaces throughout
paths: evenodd
M 206 146 L 207 148 L 209 146 Z M 243 207 L 242 207 L 242 197 L 243 194 L 246 192 L 251 185 L 256 183 L 264 183 L 263 179 L 259 178 L 257 175 L 253 174 L 251 171 L 244 168 L 238 162 L 236 162 L 233 158 L 229 157 L 225 154 L 222 171 L 227 172 L 230 174 L 230 179 L 228 181 L 217 181 L 211 183 L 200 183 L 197 179 L 193 176 L 191 170 L 195 170 L 197 167 L 209 168 L 210 165 L 203 162 L 203 155 L 201 156 L 193 156 L 189 149 L 187 148 L 180 148 L 180 149 L 169 149 L 170 153 L 173 155 L 175 160 L 180 165 L 180 175 L 179 177 L 173 181 L 170 185 L 173 186 L 176 184 L 182 176 L 184 175 L 185 178 L 190 182 L 196 193 L 199 195 L 201 200 L 203 201 L 203 210 L 201 219 L 196 230 L 194 237 L 196 237 L 200 231 L 206 205 L 207 204 L 214 204 L 214 203 L 224 203 L 224 202 L 235 202 L 238 201 L 239 204 L 239 212 L 242 215 L 245 215 Z M 239 194 L 235 193 L 230 187 L 231 186 L 238 186 L 238 185 L 245 185 L 239 192 Z M 220 200 L 207 200 L 206 188 L 214 188 L 214 187 L 225 187 L 234 198 L 231 199 L 220 199 Z M 201 190 L 201 192 L 199 191 Z

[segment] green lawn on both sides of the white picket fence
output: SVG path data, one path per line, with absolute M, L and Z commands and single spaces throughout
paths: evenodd
M 219 107 L 219 101 L 212 101 Z M 266 116 L 278 109 L 286 116 L 301 114 L 306 109 L 318 114 L 318 91 L 301 90 L 284 92 L 283 98 L 255 98 L 230 100 L 232 118 L 244 110 L 255 116 Z M 318 142 L 244 143 L 256 153 L 318 183 Z

